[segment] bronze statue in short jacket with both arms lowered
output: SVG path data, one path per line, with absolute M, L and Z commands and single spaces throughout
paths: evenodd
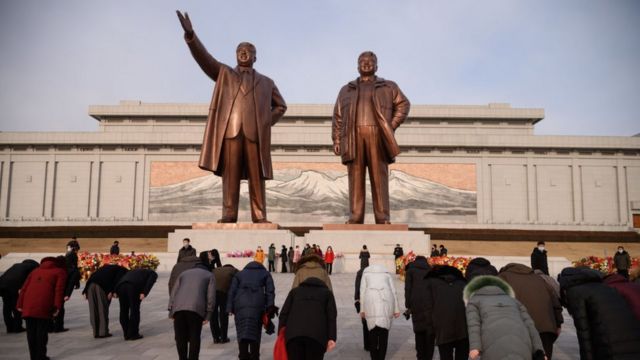
M 333 152 L 349 173 L 349 220 L 364 222 L 365 168 L 369 169 L 376 224 L 390 224 L 389 164 L 400 154 L 394 132 L 409 114 L 409 100 L 393 81 L 376 77 L 378 58 L 358 57 L 360 77 L 340 89 L 333 109 Z

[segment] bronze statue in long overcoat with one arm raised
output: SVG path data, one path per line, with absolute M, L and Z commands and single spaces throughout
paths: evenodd
M 198 166 L 222 177 L 222 218 L 218 222 L 238 221 L 240 180 L 248 179 L 251 220 L 268 223 L 265 180 L 273 178 L 271 126 L 287 105 L 273 80 L 253 69 L 255 46 L 238 45 L 235 68 L 220 63 L 194 33 L 189 15 L 176 13 L 193 58 L 216 82 Z

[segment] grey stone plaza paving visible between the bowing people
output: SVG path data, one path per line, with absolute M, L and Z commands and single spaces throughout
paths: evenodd
M 88 305 L 80 290 L 76 290 L 66 305 L 65 326 L 70 329 L 66 333 L 50 334 L 48 355 L 52 359 L 136 359 L 161 360 L 176 359 L 177 352 L 173 339 L 173 326 L 167 318 L 168 272 L 159 273 L 158 282 L 142 302 L 142 321 L 140 333 L 144 338 L 137 341 L 124 341 L 122 329 L 118 323 L 119 304 L 115 300 L 110 309 L 110 331 L 114 335 L 107 339 L 94 339 L 89 323 Z M 281 307 L 293 280 L 292 274 L 274 274 L 276 284 L 276 305 Z M 362 347 L 362 330 L 360 319 L 353 306 L 353 290 L 355 274 L 332 275 L 333 288 L 338 305 L 338 341 L 335 350 L 328 353 L 327 359 L 368 359 L 368 353 Z M 83 284 L 84 287 L 84 284 Z M 401 308 L 404 304 L 404 283 L 396 282 Z M 578 341 L 571 317 L 565 311 L 565 325 L 556 342 L 554 359 L 578 359 Z M 230 318 L 228 344 L 214 344 L 209 326 L 202 331 L 201 359 L 234 359 L 238 348 L 235 337 L 233 318 Z M 275 335 L 262 337 L 262 358 L 271 359 Z M 436 351 L 437 354 L 437 351 Z M 25 333 L 6 334 L 4 322 L 0 329 L 0 358 L 28 359 L 27 339 Z M 436 355 L 434 357 L 438 359 Z M 404 317 L 394 320 L 390 331 L 387 359 L 415 359 L 414 337 L 411 321 Z

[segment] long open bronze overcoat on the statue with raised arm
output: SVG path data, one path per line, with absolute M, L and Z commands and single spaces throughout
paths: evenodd
M 198 166 L 218 176 L 222 175 L 220 154 L 229 115 L 234 101 L 240 91 L 242 77 L 237 69 L 218 63 L 205 49 L 198 37 L 187 40 L 193 57 L 202 70 L 216 82 L 213 90 L 209 115 L 200 152 Z M 217 78 L 213 67 L 220 66 Z M 258 146 L 260 149 L 260 173 L 264 179 L 273 178 L 271 166 L 271 126 L 280 120 L 287 105 L 280 95 L 273 80 L 258 73 L 253 73 L 253 97 L 256 110 L 256 127 L 258 130 Z M 246 179 L 243 174 L 243 179 Z

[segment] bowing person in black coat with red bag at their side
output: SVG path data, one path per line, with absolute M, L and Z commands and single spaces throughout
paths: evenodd
M 337 339 L 338 310 L 324 281 L 310 277 L 293 288 L 282 306 L 278 332 L 285 329 L 290 359 L 322 359 Z

